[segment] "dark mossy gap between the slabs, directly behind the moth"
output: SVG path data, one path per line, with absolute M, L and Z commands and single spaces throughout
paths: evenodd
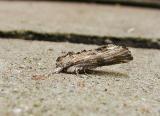
M 19 38 L 25 40 L 40 40 L 53 42 L 71 42 L 83 44 L 105 45 L 109 43 L 126 45 L 135 48 L 160 49 L 160 39 L 153 41 L 149 38 L 140 37 L 113 37 L 92 36 L 67 33 L 40 33 L 34 31 L 0 31 L 1 38 Z

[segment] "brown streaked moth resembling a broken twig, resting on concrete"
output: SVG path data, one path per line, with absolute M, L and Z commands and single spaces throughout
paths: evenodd
M 93 50 L 68 52 L 56 60 L 54 73 L 80 73 L 101 66 L 128 63 L 133 60 L 131 52 L 125 46 L 108 44 Z

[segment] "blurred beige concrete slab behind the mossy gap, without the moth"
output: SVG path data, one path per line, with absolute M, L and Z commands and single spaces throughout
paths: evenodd
M 0 1 L 0 30 L 160 37 L 158 9 L 63 2 Z

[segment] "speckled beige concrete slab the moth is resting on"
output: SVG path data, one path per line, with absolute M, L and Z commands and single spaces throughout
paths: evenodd
M 0 115 L 159 116 L 159 50 L 130 48 L 132 62 L 94 74 L 47 76 L 62 51 L 96 47 L 0 39 Z

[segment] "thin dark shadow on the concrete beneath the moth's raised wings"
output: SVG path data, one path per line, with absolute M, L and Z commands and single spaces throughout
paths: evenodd
M 98 75 L 98 76 L 107 75 L 107 76 L 113 76 L 113 77 L 125 77 L 125 78 L 129 77 L 128 74 L 117 72 L 117 71 L 86 70 L 85 73 L 90 75 Z

